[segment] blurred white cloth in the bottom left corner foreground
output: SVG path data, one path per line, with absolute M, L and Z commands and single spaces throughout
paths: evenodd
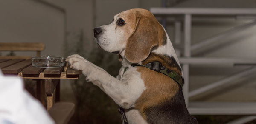
M 23 79 L 3 76 L 0 70 L 0 124 L 55 124 L 23 87 Z

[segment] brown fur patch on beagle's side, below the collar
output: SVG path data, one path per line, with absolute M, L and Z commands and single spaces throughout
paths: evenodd
M 144 109 L 172 98 L 177 93 L 179 86 L 168 76 L 149 68 L 138 67 L 137 71 L 141 73 L 141 79 L 144 81 L 146 90 L 135 102 L 135 108 L 146 119 Z

